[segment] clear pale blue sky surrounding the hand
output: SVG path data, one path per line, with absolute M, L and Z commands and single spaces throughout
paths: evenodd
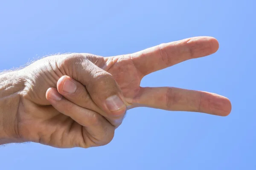
M 0 147 L 0 170 L 256 169 L 254 0 L 1 0 L 0 70 L 58 52 L 127 54 L 194 36 L 219 51 L 148 75 L 142 86 L 227 96 L 227 117 L 152 108 L 128 111 L 113 141 L 89 149 Z

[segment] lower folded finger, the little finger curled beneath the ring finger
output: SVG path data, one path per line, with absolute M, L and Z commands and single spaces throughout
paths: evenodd
M 69 116 L 85 127 L 88 133 L 84 134 L 90 134 L 84 136 L 86 141 L 91 140 L 94 143 L 97 142 L 98 145 L 101 145 L 106 144 L 113 139 L 115 127 L 99 113 L 75 105 L 73 102 L 70 102 L 61 96 L 55 88 L 49 88 L 46 97 L 56 110 Z

